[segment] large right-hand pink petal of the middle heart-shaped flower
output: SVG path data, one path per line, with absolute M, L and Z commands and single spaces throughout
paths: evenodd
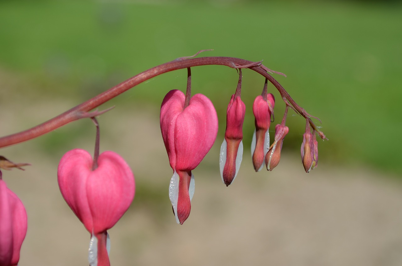
M 211 100 L 195 94 L 176 119 L 176 170 L 191 171 L 211 149 L 218 132 L 218 117 Z

